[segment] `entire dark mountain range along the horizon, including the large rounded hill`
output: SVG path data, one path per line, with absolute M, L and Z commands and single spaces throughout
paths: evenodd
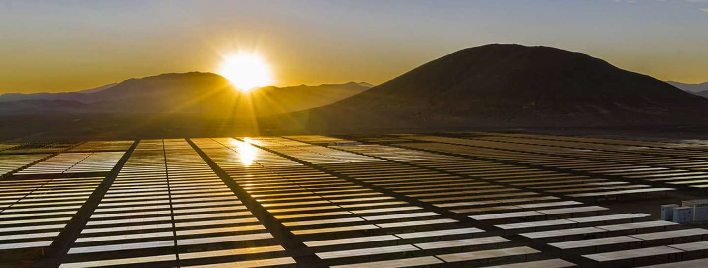
M 708 98 L 699 96 L 708 84 L 670 83 L 578 52 L 492 44 L 373 87 L 352 82 L 241 93 L 217 74 L 161 74 L 73 93 L 4 94 L 0 114 L 258 117 L 259 127 L 331 131 L 708 123 Z

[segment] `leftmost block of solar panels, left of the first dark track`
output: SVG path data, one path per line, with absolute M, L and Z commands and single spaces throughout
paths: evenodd
M 75 145 L 21 144 L 1 152 L 0 252 L 50 247 L 127 151 L 62 153 Z

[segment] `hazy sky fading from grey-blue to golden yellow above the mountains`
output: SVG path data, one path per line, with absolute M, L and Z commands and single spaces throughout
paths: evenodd
M 546 45 L 664 81 L 708 81 L 708 0 L 0 0 L 0 94 L 219 69 L 255 52 L 273 86 L 379 84 L 489 43 Z

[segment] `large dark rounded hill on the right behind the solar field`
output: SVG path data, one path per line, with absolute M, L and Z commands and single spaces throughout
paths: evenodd
M 680 124 L 708 99 L 553 47 L 484 45 L 293 117 L 311 129 Z

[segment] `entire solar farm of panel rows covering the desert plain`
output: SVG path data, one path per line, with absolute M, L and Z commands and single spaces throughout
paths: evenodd
M 497 132 L 2 144 L 0 267 L 702 267 L 706 224 L 631 204 L 705 196 L 707 158 Z

